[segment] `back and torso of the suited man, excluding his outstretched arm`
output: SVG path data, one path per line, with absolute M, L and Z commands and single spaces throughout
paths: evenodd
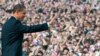
M 2 28 L 2 55 L 20 56 L 22 50 L 23 33 L 18 31 L 20 21 L 11 17 Z

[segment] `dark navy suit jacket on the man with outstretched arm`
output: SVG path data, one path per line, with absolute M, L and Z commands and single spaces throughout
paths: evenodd
M 22 56 L 23 33 L 48 30 L 47 23 L 26 26 L 11 17 L 2 28 L 2 56 Z

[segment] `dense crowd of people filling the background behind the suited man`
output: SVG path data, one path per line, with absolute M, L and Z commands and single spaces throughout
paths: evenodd
M 100 56 L 97 0 L 5 0 L 0 5 L 0 30 L 18 3 L 26 6 L 22 21 L 26 25 L 45 23 L 57 15 L 50 30 L 25 34 L 22 56 Z

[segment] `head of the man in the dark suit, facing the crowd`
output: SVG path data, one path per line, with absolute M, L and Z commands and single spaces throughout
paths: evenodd
M 25 6 L 23 4 L 17 4 L 13 8 L 13 15 L 18 20 L 23 20 L 26 14 Z

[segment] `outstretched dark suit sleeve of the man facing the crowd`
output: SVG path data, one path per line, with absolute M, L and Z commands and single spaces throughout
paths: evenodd
M 22 33 L 40 32 L 40 31 L 44 31 L 44 30 L 49 29 L 47 23 L 32 25 L 32 26 L 27 26 L 27 25 L 23 25 L 21 23 L 18 23 L 17 27 L 18 27 L 19 32 L 22 32 Z

